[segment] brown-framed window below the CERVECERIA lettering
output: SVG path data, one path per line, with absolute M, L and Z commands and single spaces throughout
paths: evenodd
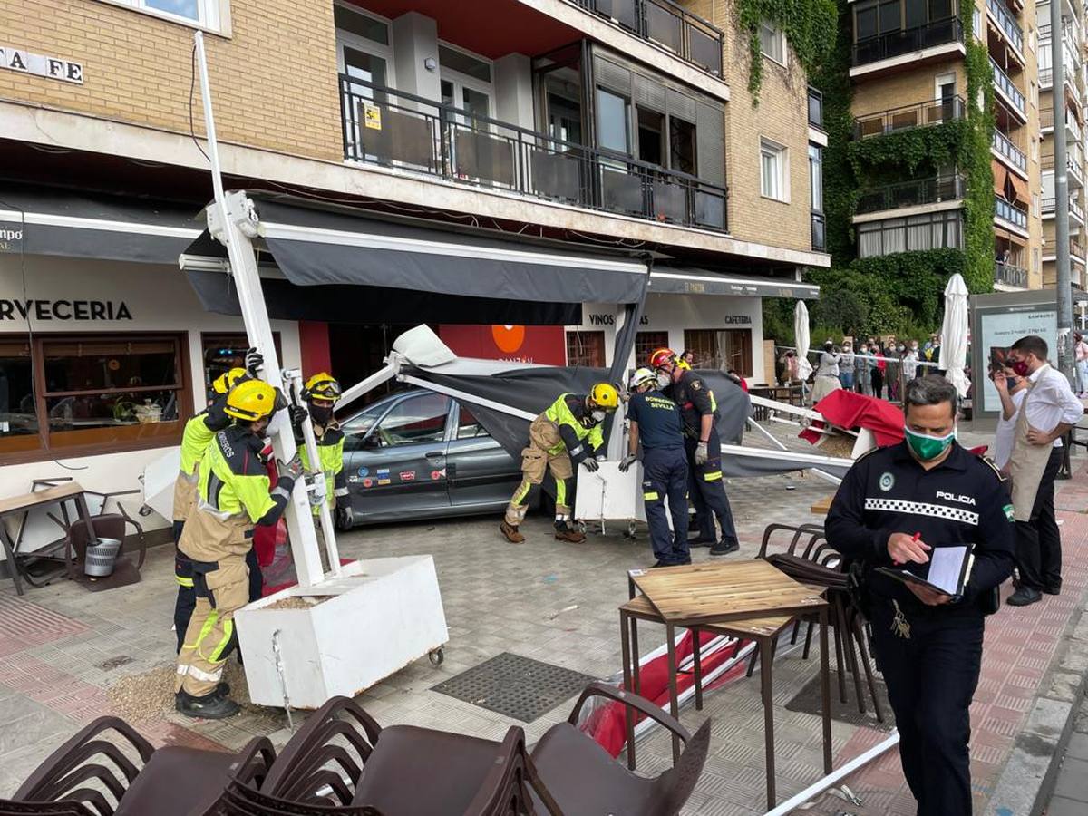
M 177 444 L 193 412 L 184 348 L 183 335 L 3 339 L 0 458 Z

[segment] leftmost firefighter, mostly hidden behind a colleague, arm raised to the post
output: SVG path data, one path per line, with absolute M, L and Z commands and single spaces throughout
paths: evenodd
M 254 372 L 260 368 L 263 360 L 250 349 L 246 362 L 254 367 Z M 177 598 L 174 602 L 174 634 L 177 636 L 176 652 L 182 651 L 182 640 L 189 625 L 189 617 L 197 605 L 196 593 L 193 590 L 193 561 L 182 555 L 177 543 L 182 539 L 182 529 L 197 500 L 197 468 L 208 444 L 217 431 L 226 428 L 231 418 L 223 412 L 227 392 L 239 382 L 251 379 L 252 375 L 243 368 L 234 368 L 220 374 L 212 381 L 212 398 L 208 407 L 185 423 L 182 433 L 182 468 L 174 482 L 174 580 L 177 581 Z M 248 556 L 247 556 L 248 558 Z M 251 593 L 250 593 L 251 594 Z M 258 595 L 259 597 L 259 595 Z

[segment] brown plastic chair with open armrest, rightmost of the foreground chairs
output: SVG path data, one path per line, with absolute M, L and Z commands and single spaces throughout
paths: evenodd
M 593 738 L 578 729 L 585 701 L 604 696 L 634 708 L 680 738 L 683 753 L 656 779 L 636 776 L 616 762 Z M 628 716 L 632 716 L 630 709 Z M 590 683 L 566 722 L 552 726 L 530 756 L 545 790 L 565 816 L 675 816 L 691 796 L 710 747 L 710 720 L 692 737 L 648 700 L 603 682 Z

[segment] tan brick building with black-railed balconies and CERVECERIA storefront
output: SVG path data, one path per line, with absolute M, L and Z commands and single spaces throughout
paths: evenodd
M 762 379 L 762 298 L 814 297 L 802 271 L 829 263 L 818 96 L 768 25 L 753 107 L 727 3 L 0 0 L 0 18 L 2 491 L 58 462 L 135 486 L 245 345 L 227 279 L 178 269 L 211 198 L 198 29 L 227 188 L 285 230 L 344 225 L 323 240 L 369 263 L 319 309 L 329 287 L 262 255 L 286 366 L 351 383 L 419 322 L 462 354 L 608 364 L 622 305 L 598 284 L 648 257 L 636 351 Z M 459 277 L 458 248 L 480 259 Z M 394 283 L 397 258 L 426 284 Z M 526 264 L 520 288 L 496 259 Z

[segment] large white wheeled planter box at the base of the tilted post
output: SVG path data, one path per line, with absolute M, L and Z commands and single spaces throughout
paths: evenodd
M 311 596 L 320 603 L 267 608 Z M 449 640 L 429 555 L 348 564 L 338 578 L 261 598 L 235 620 L 250 700 L 283 706 L 286 691 L 293 708 L 355 696 Z

